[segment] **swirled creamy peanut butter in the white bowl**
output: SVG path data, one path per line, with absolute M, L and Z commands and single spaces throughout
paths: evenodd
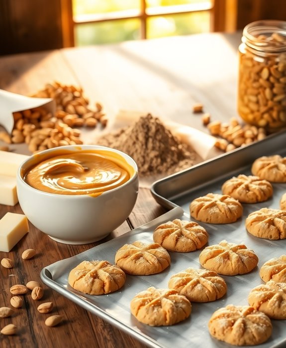
M 52 158 L 37 160 L 24 174 L 24 181 L 49 193 L 97 196 L 122 185 L 134 174 L 123 157 L 104 150 L 59 150 Z

